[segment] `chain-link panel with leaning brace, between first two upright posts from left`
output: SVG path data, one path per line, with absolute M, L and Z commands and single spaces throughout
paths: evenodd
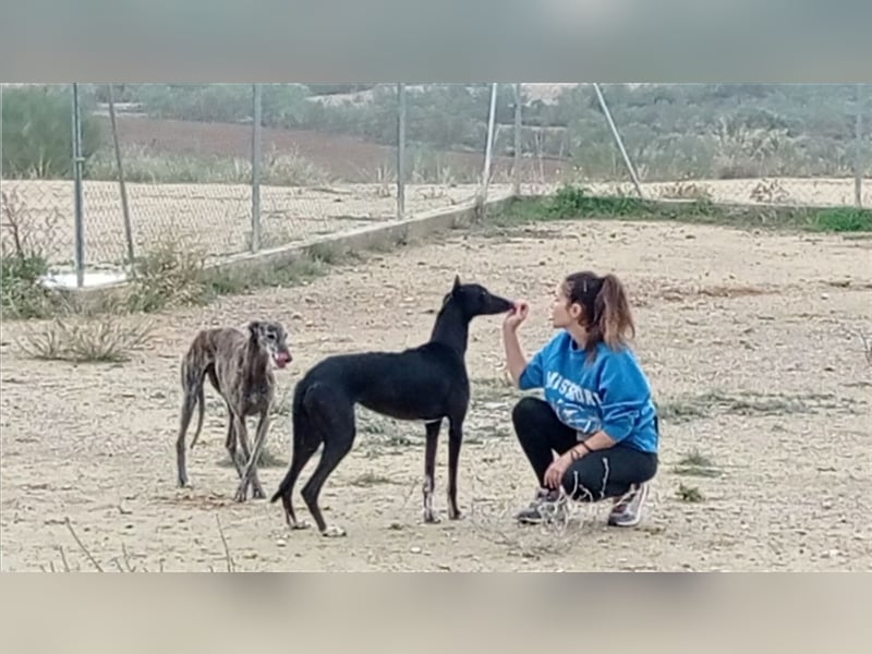
M 106 147 L 87 166 L 86 215 L 95 228 L 87 232 L 90 264 L 117 261 L 122 226 L 108 89 L 95 94 Z M 213 256 L 245 251 L 252 225 L 251 85 L 116 85 L 113 96 L 137 253 L 168 241 Z M 99 239 L 108 233 L 111 244 Z

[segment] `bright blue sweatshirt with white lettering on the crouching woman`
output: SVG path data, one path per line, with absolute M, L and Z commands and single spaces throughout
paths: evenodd
M 651 386 L 629 348 L 613 351 L 600 343 L 589 362 L 588 352 L 561 329 L 530 360 L 518 386 L 542 388 L 560 422 L 581 434 L 602 429 L 629 447 L 657 451 Z

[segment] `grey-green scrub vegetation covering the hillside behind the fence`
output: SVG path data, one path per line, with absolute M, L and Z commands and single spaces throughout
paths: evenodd
M 365 100 L 324 101 L 325 94 L 362 90 L 366 92 Z M 611 84 L 603 85 L 603 92 L 645 181 L 852 174 L 853 85 Z M 83 85 L 83 93 L 92 105 L 107 95 L 100 85 Z M 26 140 L 33 146 L 29 150 L 15 147 L 9 156 L 4 153 L 4 175 L 34 175 L 34 171 L 63 175 L 65 170 L 46 168 L 40 162 L 43 153 L 69 146 L 69 105 L 51 100 L 61 126 L 35 131 L 33 121 L 22 111 L 7 111 L 8 104 L 17 106 L 19 96 L 26 94 L 31 94 L 27 102 L 37 101 L 32 89 L 4 90 L 3 141 Z M 49 101 L 53 95 L 63 93 L 44 93 L 43 97 Z M 116 95 L 118 101 L 135 102 L 140 111 L 155 119 L 251 121 L 252 89 L 244 84 L 124 84 L 116 87 Z M 864 96 L 863 122 L 868 125 L 872 122 L 872 92 Z M 512 153 L 513 101 L 511 87 L 500 85 L 496 120 L 501 129 L 496 154 Z M 574 168 L 581 179 L 625 175 L 590 85 L 570 87 L 554 102 L 525 97 L 522 102 L 524 154 L 559 158 L 566 162 L 565 169 Z M 487 84 L 411 87 L 407 94 L 410 147 L 481 153 L 488 104 Z M 391 146 L 397 142 L 396 86 L 267 84 L 263 88 L 263 122 L 267 128 L 313 130 Z M 65 142 L 63 134 L 68 134 Z M 53 145 L 45 145 L 46 140 Z M 107 135 L 95 136 L 89 140 L 93 142 L 102 148 L 108 145 Z M 89 147 L 87 153 L 98 149 Z M 868 136 L 862 150 L 867 160 L 872 158 L 872 140 Z M 109 166 L 92 166 L 88 174 L 107 179 L 112 171 Z

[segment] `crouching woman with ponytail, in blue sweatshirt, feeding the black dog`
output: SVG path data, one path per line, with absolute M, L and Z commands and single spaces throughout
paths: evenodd
M 561 280 L 552 307 L 558 332 L 530 362 L 518 340 L 528 312 L 526 303 L 516 303 L 502 326 L 512 379 L 521 390 L 544 391 L 544 399 L 525 397 L 512 411 L 538 483 L 518 520 L 541 522 L 545 507 L 568 496 L 611 499 L 608 524 L 639 524 L 657 472 L 659 433 L 651 386 L 628 341 L 635 328 L 623 286 L 590 271 Z

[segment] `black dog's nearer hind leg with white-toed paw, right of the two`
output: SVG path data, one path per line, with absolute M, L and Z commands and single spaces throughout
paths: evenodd
M 344 536 L 346 530 L 341 526 L 327 526 L 318 508 L 318 495 L 327 477 L 354 445 L 354 404 L 342 395 L 313 388 L 307 398 L 306 412 L 322 433 L 324 451 L 315 472 L 303 486 L 303 499 L 323 536 Z

